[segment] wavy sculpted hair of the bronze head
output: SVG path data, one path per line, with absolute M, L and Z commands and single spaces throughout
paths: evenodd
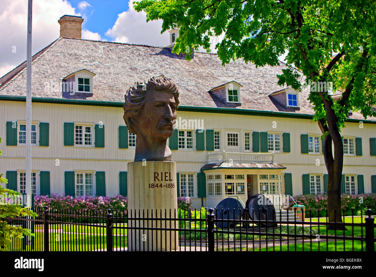
M 179 105 L 179 90 L 175 82 L 167 77 L 152 77 L 145 82 L 136 82 L 124 95 L 124 122 L 128 127 L 129 133 L 135 133 L 133 128 L 133 119 L 139 116 L 145 104 L 145 95 L 147 92 L 165 92 L 172 93 L 176 102 L 176 109 Z M 137 134 L 136 134 L 137 135 Z

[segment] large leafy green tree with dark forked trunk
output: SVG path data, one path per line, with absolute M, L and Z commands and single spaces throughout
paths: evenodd
M 326 87 L 311 90 L 314 120 L 323 133 L 329 174 L 329 220 L 341 222 L 341 129 L 350 110 L 364 118 L 376 116 L 376 16 L 374 0 L 141 0 L 136 11 L 147 21 L 162 19 L 162 30 L 180 28 L 175 53 L 209 52 L 211 38 L 223 65 L 243 58 L 256 66 L 276 66 L 288 51 L 288 69 L 279 85 L 302 90 L 307 83 L 332 82 L 341 96 L 334 100 Z M 334 55 L 334 53 L 338 53 Z M 190 55 L 186 59 L 190 60 Z M 334 153 L 332 151 L 332 142 Z M 335 212 L 336 216 L 335 216 Z

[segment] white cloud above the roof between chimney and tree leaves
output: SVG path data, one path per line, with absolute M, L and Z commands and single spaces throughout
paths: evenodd
M 146 22 L 144 12 L 133 9 L 133 0 L 128 3 L 129 10 L 118 14 L 118 18 L 106 35 L 116 42 L 167 46 L 170 43 L 170 33 L 162 30 L 162 20 Z

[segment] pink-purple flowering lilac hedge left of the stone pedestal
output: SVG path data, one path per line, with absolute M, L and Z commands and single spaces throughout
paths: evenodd
M 117 196 L 78 196 L 69 195 L 36 195 L 35 207 L 47 206 L 52 209 L 69 209 L 69 210 L 107 210 L 120 211 L 127 214 L 128 202 L 127 197 Z

